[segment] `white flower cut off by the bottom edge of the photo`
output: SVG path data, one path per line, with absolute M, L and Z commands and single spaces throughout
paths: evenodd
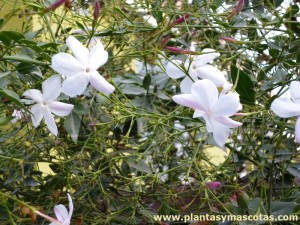
M 56 215 L 56 218 L 58 222 L 62 225 L 70 225 L 71 223 L 71 217 L 73 214 L 73 201 L 69 194 L 68 194 L 68 200 L 69 200 L 69 212 L 67 208 L 62 204 L 54 206 L 54 213 Z M 49 225 L 60 225 L 60 224 L 56 222 L 52 222 Z

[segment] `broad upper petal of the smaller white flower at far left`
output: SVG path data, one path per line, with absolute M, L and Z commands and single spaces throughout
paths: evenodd
M 49 77 L 42 83 L 44 101 L 57 99 L 61 91 L 61 78 L 59 75 Z

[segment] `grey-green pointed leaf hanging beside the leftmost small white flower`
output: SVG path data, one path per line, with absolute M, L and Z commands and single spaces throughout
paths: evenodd
M 71 136 L 73 142 L 76 144 L 78 140 L 81 120 L 77 113 L 71 112 L 65 120 L 64 127 Z

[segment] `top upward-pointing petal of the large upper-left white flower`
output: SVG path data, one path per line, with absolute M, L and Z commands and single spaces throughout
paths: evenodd
M 75 58 L 81 62 L 84 67 L 89 64 L 90 53 L 89 50 L 84 47 L 75 37 L 69 36 L 66 40 L 66 44 L 71 49 Z

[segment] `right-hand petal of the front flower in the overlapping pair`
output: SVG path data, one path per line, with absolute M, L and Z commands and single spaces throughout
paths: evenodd
M 235 114 L 240 105 L 240 98 L 237 93 L 221 95 L 213 106 L 215 116 L 231 116 Z

